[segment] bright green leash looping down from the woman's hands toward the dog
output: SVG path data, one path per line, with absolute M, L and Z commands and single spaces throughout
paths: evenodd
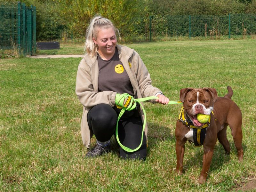
M 127 151 L 127 152 L 134 152 L 134 151 L 137 151 L 137 150 L 141 147 L 141 145 L 142 145 L 143 133 L 144 133 L 144 129 L 145 129 L 146 121 L 147 121 L 147 116 L 146 116 L 145 109 L 144 109 L 144 107 L 142 106 L 142 104 L 141 104 L 140 102 L 142 102 L 142 101 L 147 101 L 147 100 L 151 100 L 151 99 L 158 99 L 158 97 L 151 96 L 151 97 L 145 97 L 145 98 L 140 98 L 140 99 L 134 99 L 135 102 L 137 102 L 137 103 L 140 104 L 140 107 L 141 107 L 141 109 L 142 109 L 142 111 L 143 111 L 143 113 L 144 113 L 144 115 L 145 115 L 144 122 L 143 122 L 143 127 L 142 127 L 142 134 L 141 134 L 140 145 L 139 145 L 137 148 L 135 148 L 135 149 L 130 149 L 130 148 L 128 148 L 128 147 L 125 147 L 125 146 L 122 145 L 122 143 L 119 141 L 118 130 L 117 130 L 117 129 L 118 129 L 118 122 L 119 122 L 120 118 L 122 117 L 122 115 L 124 114 L 124 112 L 125 112 L 126 109 L 125 109 L 125 108 L 122 108 L 122 110 L 121 110 L 120 113 L 119 113 L 119 116 L 118 116 L 118 119 L 117 119 L 117 122 L 116 122 L 116 140 L 117 140 L 118 144 L 121 146 L 121 148 L 124 149 L 124 150 Z M 178 102 L 177 102 L 177 101 L 169 101 L 168 104 L 182 104 L 182 102 L 180 102 L 180 101 L 178 101 Z

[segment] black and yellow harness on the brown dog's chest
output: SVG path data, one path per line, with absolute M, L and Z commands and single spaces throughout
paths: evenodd
M 213 114 L 213 112 L 212 112 Z M 213 114 L 214 116 L 214 114 Z M 189 118 L 186 118 L 186 113 L 184 113 L 184 108 L 181 107 L 180 109 L 180 115 L 179 115 L 179 121 L 182 122 L 184 125 L 188 126 L 188 128 L 192 128 L 193 130 L 193 140 L 194 142 L 192 142 L 191 140 L 188 140 L 190 144 L 194 143 L 195 147 L 200 147 L 203 145 L 204 143 L 204 138 L 206 135 L 206 130 L 207 127 L 210 126 L 210 122 L 211 122 L 211 116 L 208 120 L 208 122 L 206 122 L 202 127 L 196 127 L 194 126 L 193 122 L 191 122 L 191 120 Z M 192 144 L 193 145 L 193 144 Z

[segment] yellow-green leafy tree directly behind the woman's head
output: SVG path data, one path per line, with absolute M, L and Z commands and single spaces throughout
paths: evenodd
M 110 19 L 121 35 L 130 34 L 143 9 L 139 0 L 66 0 L 56 4 L 56 18 L 67 24 L 74 36 L 85 36 L 90 20 L 97 14 Z

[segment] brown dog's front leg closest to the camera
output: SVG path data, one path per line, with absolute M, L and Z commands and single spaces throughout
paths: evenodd
M 214 148 L 214 146 L 213 146 L 213 148 Z M 201 171 L 199 179 L 198 179 L 199 184 L 203 184 L 206 182 L 210 164 L 212 162 L 213 148 L 204 146 L 203 168 L 202 168 L 202 171 Z

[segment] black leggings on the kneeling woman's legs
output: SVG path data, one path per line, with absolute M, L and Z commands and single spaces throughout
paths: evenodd
M 87 115 L 89 128 L 100 142 L 110 140 L 116 132 L 116 121 L 120 109 L 107 104 L 98 104 L 90 109 Z M 142 121 L 134 115 L 134 111 L 125 111 L 118 122 L 118 137 L 120 142 L 128 148 L 135 149 L 140 145 Z M 115 135 L 116 136 L 116 135 Z M 144 133 L 141 147 L 132 153 L 124 151 L 119 146 L 119 155 L 123 158 L 143 159 L 147 155 L 146 135 Z

